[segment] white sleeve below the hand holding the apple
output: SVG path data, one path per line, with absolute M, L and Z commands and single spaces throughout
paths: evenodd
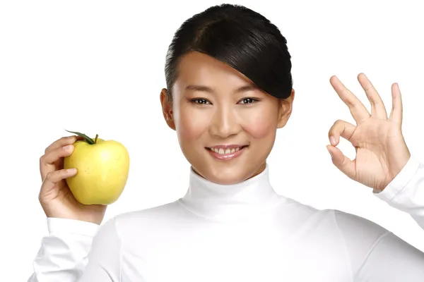
M 119 282 L 120 244 L 112 218 L 101 226 L 47 218 L 49 235 L 33 262 L 28 282 Z

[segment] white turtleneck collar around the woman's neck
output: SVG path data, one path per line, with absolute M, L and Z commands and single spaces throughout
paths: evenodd
M 190 167 L 189 189 L 178 202 L 189 212 L 216 221 L 257 218 L 273 210 L 285 197 L 269 183 L 269 166 L 242 183 L 221 185 L 199 176 Z

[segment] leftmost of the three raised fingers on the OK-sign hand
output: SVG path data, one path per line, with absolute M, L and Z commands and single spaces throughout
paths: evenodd
M 338 97 L 340 97 L 340 99 L 348 106 L 356 123 L 360 123 L 365 120 L 365 118 L 370 117 L 370 113 L 368 113 L 367 108 L 365 108 L 355 94 L 349 91 L 346 86 L 338 80 L 336 75 L 331 76 L 330 83 L 334 90 L 336 90 Z

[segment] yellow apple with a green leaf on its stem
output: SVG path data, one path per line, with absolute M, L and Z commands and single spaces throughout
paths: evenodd
M 98 135 L 93 140 L 83 133 L 76 134 L 84 140 L 73 143 L 72 154 L 64 158 L 64 168 L 77 169 L 75 176 L 66 178 L 73 197 L 81 204 L 112 204 L 122 194 L 129 175 L 126 147 Z

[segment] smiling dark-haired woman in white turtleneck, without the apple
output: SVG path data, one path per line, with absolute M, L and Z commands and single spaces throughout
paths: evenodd
M 390 231 L 271 187 L 266 158 L 292 111 L 290 70 L 285 38 L 254 11 L 221 5 L 187 20 L 170 44 L 160 93 L 192 165 L 187 194 L 98 228 L 106 207 L 78 204 L 64 181 L 75 173 L 60 166 L 77 137 L 57 140 L 41 158 L 49 235 L 28 281 L 424 281 L 424 254 Z M 424 228 L 424 165 L 401 134 L 399 87 L 387 118 L 371 82 L 358 80 L 371 114 L 330 80 L 357 123 L 329 130 L 333 163 Z M 337 149 L 340 137 L 355 146 L 355 161 Z

